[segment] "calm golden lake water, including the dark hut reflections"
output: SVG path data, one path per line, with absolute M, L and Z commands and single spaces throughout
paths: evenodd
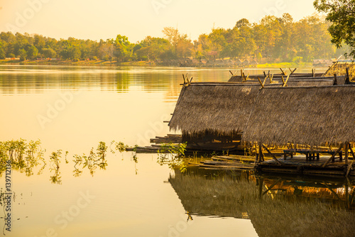
M 334 220 L 325 216 L 331 211 L 345 221 L 354 218 L 346 211 L 354 199 L 351 180 L 278 180 L 190 168 L 180 174 L 160 166 L 155 154 L 138 154 L 136 160 L 133 153 L 111 153 L 112 146 L 106 170 L 75 167 L 74 156 L 88 156 L 99 142 L 148 145 L 150 138 L 165 136 L 163 121 L 173 113 L 182 74 L 225 82 L 228 70 L 0 66 L 0 140 L 39 139 L 46 162 L 43 170 L 43 162 L 35 166 L 33 175 L 12 170 L 12 223 L 6 236 L 303 236 L 312 219 L 329 226 Z M 57 150 L 62 150 L 59 170 L 50 161 Z M 6 175 L 1 175 L 5 189 Z M 295 211 L 310 206 L 317 207 L 317 215 L 302 219 Z M 285 230 L 273 232 L 280 226 Z

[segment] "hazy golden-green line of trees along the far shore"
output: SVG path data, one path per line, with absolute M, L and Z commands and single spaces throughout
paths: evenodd
M 231 57 L 266 59 L 268 62 L 310 62 L 313 59 L 339 57 L 349 50 L 337 48 L 324 17 L 312 15 L 294 21 L 288 13 L 282 17 L 265 16 L 259 23 L 246 18 L 233 28 L 212 28 L 197 40 L 190 40 L 177 28 L 165 27 L 164 38 L 147 36 L 131 43 L 124 35 L 107 40 L 56 40 L 28 33 L 0 33 L 0 59 L 20 57 L 21 60 L 60 58 L 62 60 L 155 61 L 192 57 L 215 60 Z

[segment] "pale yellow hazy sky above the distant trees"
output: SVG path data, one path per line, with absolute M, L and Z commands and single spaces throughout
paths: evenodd
M 313 0 L 0 0 L 0 31 L 52 38 L 99 40 L 126 35 L 132 43 L 163 37 L 178 27 L 192 40 L 215 28 L 233 28 L 247 18 L 290 13 L 298 21 L 315 13 Z

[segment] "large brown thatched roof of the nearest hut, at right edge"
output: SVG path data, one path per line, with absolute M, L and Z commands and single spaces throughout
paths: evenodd
M 309 145 L 354 141 L 354 101 L 351 85 L 262 89 L 243 140 Z

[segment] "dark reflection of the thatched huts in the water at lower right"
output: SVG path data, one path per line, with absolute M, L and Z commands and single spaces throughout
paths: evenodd
M 188 167 L 169 182 L 188 214 L 250 219 L 258 236 L 352 236 L 355 228 L 354 180 Z

